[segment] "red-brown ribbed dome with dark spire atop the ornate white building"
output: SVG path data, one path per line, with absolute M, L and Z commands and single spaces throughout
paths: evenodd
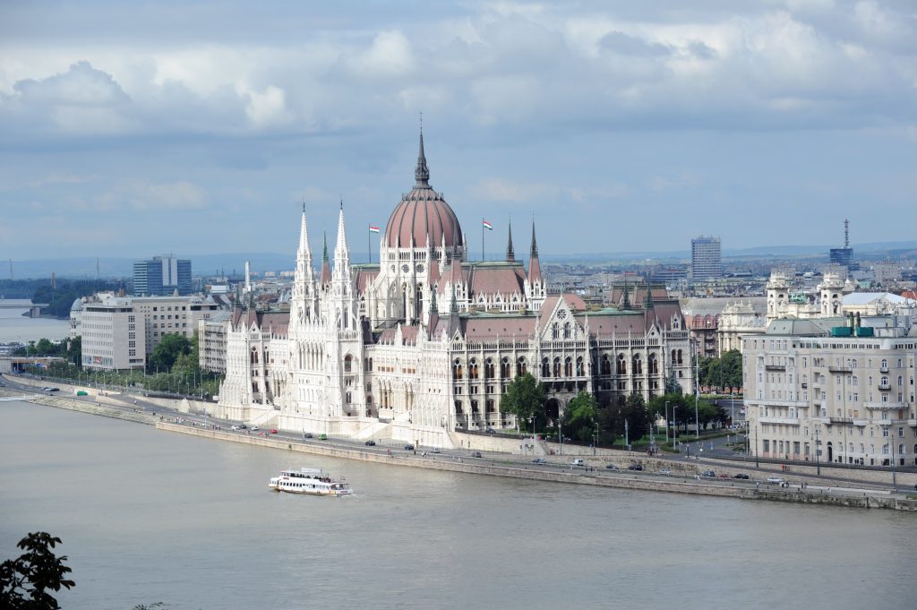
M 439 248 L 443 242 L 447 249 L 463 245 L 461 227 L 452 208 L 442 195 L 430 186 L 430 171 L 426 168 L 424 133 L 420 133 L 420 154 L 414 171 L 417 183 L 395 207 L 385 227 L 385 244 L 389 248 Z M 412 244 L 413 240 L 413 244 Z

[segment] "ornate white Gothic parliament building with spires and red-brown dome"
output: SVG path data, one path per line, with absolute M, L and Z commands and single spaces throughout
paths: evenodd
M 456 431 L 513 427 L 500 398 L 517 375 L 547 387 L 557 421 L 580 390 L 601 404 L 691 392 L 688 331 L 665 290 L 606 306 L 547 295 L 535 227 L 526 266 L 512 228 L 503 261 L 468 261 L 458 217 L 429 184 L 423 136 L 414 188 L 380 238 L 380 264 L 350 262 L 343 206 L 332 260 L 315 272 L 303 213 L 290 312 L 237 309 L 220 403 L 235 419 L 353 438 L 459 445 Z

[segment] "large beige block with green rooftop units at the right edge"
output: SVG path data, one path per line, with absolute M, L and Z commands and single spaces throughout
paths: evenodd
M 860 327 L 845 317 L 781 319 L 764 335 L 744 338 L 753 454 L 917 465 L 917 326 L 911 319 L 865 317 Z

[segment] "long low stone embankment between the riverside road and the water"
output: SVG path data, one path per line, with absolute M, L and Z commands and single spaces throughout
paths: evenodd
M 410 468 L 425 468 L 437 471 L 465 472 L 468 474 L 527 479 L 532 481 L 566 482 L 599 487 L 615 487 L 675 494 L 715 495 L 746 500 L 771 500 L 798 504 L 834 505 L 856 508 L 889 508 L 917 512 L 917 500 L 907 500 L 900 496 L 889 494 L 888 492 L 866 491 L 863 492 L 863 494 L 831 494 L 830 492 L 825 493 L 822 490 L 806 491 L 772 487 L 759 488 L 738 482 L 714 483 L 691 481 L 688 479 L 651 479 L 635 474 L 624 474 L 623 472 L 609 475 L 601 471 L 585 471 L 580 469 L 547 471 L 530 469 L 513 462 L 501 462 L 499 459 L 456 460 L 436 455 L 415 456 L 407 452 L 388 455 L 381 452 L 341 447 L 333 444 L 291 442 L 283 438 L 237 434 L 223 430 L 183 426 L 168 422 L 158 422 L 156 427 L 160 430 L 187 434 L 200 438 L 228 440 L 230 442 L 244 443 L 270 449 L 281 449 L 323 455 L 330 458 L 361 460 Z

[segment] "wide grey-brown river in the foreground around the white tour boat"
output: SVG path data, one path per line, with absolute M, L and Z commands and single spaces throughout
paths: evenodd
M 340 499 L 276 494 L 320 467 Z M 912 608 L 917 517 L 526 482 L 0 403 L 0 558 L 63 539 L 68 610 Z

